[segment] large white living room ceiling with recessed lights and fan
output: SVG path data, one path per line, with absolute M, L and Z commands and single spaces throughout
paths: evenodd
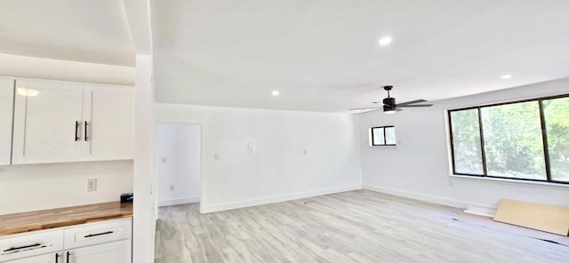
M 337 112 L 386 84 L 403 102 L 569 76 L 566 0 L 151 4 L 160 102 Z

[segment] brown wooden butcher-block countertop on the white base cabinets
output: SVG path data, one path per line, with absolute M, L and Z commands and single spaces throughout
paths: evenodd
M 119 202 L 0 215 L 0 236 L 130 217 L 132 203 Z

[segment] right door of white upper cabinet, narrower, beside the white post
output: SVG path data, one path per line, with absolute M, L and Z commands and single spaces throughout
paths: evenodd
M 132 159 L 134 92 L 132 89 L 84 86 L 84 150 L 88 160 Z

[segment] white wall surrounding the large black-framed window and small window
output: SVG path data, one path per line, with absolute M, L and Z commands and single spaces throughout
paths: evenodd
M 492 179 L 450 177 L 446 109 L 521 100 L 569 92 L 569 79 L 435 101 L 431 108 L 407 108 L 395 115 L 379 111 L 360 116 L 360 147 L 365 187 L 430 202 L 493 213 L 502 198 L 569 204 L 569 187 Z M 420 98 L 418 98 L 420 99 Z M 397 148 L 368 146 L 368 129 L 394 124 Z M 478 209 L 477 209 L 478 207 Z M 477 211 L 478 210 L 478 211 Z

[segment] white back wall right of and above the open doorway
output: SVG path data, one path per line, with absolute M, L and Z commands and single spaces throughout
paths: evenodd
M 204 212 L 361 187 L 357 116 L 174 104 L 155 110 L 156 122 L 202 124 Z

